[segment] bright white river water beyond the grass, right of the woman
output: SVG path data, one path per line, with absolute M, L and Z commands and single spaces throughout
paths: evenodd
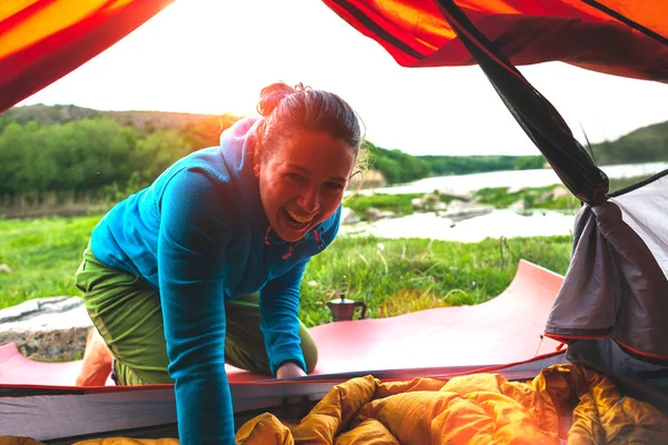
M 651 176 L 668 169 L 668 162 L 618 165 L 601 167 L 610 178 Z M 494 171 L 489 174 L 444 176 L 421 179 L 411 184 L 375 189 L 376 194 L 428 194 L 436 189 L 455 192 L 474 191 L 485 187 L 544 187 L 561 184 L 552 169 Z M 364 192 L 369 192 L 364 190 Z M 374 222 L 343 225 L 343 235 L 374 235 L 382 238 L 430 238 L 477 243 L 484 238 L 572 235 L 573 214 L 537 211 L 520 215 L 499 209 L 474 218 L 453 221 L 434 212 L 414 214 Z

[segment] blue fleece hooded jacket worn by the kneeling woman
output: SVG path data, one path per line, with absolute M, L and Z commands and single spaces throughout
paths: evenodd
M 246 118 L 148 188 L 114 207 L 91 249 L 108 266 L 160 293 L 168 372 L 175 380 L 181 444 L 234 443 L 225 374 L 225 300 L 259 290 L 261 328 L 272 372 L 305 369 L 299 346 L 299 284 L 308 259 L 338 230 L 341 207 L 294 245 L 268 230 L 253 174 L 254 129 Z M 320 239 L 318 239 L 320 238 Z

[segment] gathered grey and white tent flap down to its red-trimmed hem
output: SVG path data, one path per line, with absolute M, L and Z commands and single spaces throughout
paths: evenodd
M 546 334 L 610 336 L 628 352 L 668 364 L 668 171 L 599 206 L 576 224 L 569 270 Z

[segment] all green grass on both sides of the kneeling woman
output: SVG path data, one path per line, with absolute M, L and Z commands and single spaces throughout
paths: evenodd
M 73 274 L 100 216 L 0 220 L 0 308 L 30 298 L 80 295 Z M 331 320 L 326 303 L 344 291 L 363 300 L 373 318 L 440 306 L 471 305 L 500 294 L 520 258 L 563 274 L 572 238 L 513 238 L 501 245 L 425 239 L 338 237 L 310 263 L 301 317 L 307 326 Z

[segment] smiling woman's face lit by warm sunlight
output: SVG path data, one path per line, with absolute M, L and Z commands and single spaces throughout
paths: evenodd
M 334 214 L 355 157 L 346 142 L 327 134 L 295 132 L 278 144 L 255 171 L 272 228 L 295 243 Z

